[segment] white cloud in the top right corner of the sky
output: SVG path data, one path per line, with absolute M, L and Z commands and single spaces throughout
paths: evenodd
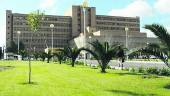
M 169 4 L 170 0 L 157 0 L 154 5 L 154 8 L 161 13 L 170 13 Z

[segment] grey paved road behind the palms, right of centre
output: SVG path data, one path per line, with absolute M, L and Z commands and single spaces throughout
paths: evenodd
M 81 60 L 83 61 L 83 60 Z M 86 60 L 87 64 L 98 65 L 97 60 Z M 118 66 L 118 61 L 112 60 L 109 65 Z M 126 61 L 124 62 L 124 67 L 126 68 L 148 68 L 148 67 L 157 67 L 157 68 L 167 68 L 163 62 L 152 62 L 152 61 Z

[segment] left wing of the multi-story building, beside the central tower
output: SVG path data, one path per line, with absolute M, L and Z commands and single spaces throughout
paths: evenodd
M 52 46 L 52 31 L 54 47 L 62 48 L 68 44 L 71 39 L 72 19 L 70 16 L 52 16 L 45 15 L 41 21 L 41 26 L 37 32 L 31 32 L 26 21 L 27 14 L 12 13 L 6 11 L 6 45 L 10 46 L 10 42 L 18 42 L 18 35 L 26 48 L 34 50 L 44 50 Z M 50 28 L 50 24 L 54 24 L 54 28 Z M 21 33 L 18 34 L 17 31 Z

